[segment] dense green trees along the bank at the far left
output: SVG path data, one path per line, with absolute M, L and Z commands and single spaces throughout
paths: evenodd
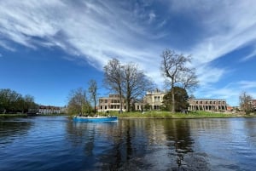
M 26 113 L 37 107 L 31 95 L 22 96 L 9 88 L 0 89 L 0 113 Z

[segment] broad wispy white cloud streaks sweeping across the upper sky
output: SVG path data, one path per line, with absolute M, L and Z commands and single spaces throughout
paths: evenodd
M 96 68 L 102 68 L 111 58 L 136 61 L 156 83 L 162 82 L 161 51 L 183 49 L 183 54 L 195 58 L 193 65 L 201 85 L 207 87 L 217 83 L 227 71 L 211 66 L 212 60 L 256 40 L 253 0 L 164 0 L 162 5 L 154 0 L 148 2 L 0 1 L 0 46 L 12 51 L 15 48 L 11 42 L 34 49 L 60 47 Z M 154 8 L 154 2 L 159 3 L 158 8 Z M 174 16 L 192 24 L 181 25 L 182 20 L 173 20 Z M 186 45 L 174 46 L 171 28 L 177 30 L 177 38 L 184 39 Z M 187 43 L 188 37 L 179 29 L 196 41 Z M 198 37 L 194 36 L 196 29 L 200 29 Z M 244 60 L 255 55 L 254 48 Z

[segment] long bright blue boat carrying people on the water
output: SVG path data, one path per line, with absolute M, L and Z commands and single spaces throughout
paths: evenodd
M 118 117 L 110 116 L 110 117 L 73 117 L 73 120 L 76 122 L 83 123 L 106 123 L 106 122 L 117 122 Z

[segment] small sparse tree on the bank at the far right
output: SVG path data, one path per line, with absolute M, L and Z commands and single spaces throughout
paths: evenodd
M 242 92 L 239 96 L 241 110 L 245 111 L 246 114 L 249 114 L 251 111 L 253 111 L 253 105 L 251 103 L 252 99 L 252 96 L 246 92 Z

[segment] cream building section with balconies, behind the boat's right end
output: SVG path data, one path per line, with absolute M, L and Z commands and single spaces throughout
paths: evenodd
M 122 110 L 125 111 L 125 100 L 122 98 Z M 120 96 L 119 94 L 109 94 L 108 97 L 99 98 L 98 111 L 119 111 L 120 110 Z

